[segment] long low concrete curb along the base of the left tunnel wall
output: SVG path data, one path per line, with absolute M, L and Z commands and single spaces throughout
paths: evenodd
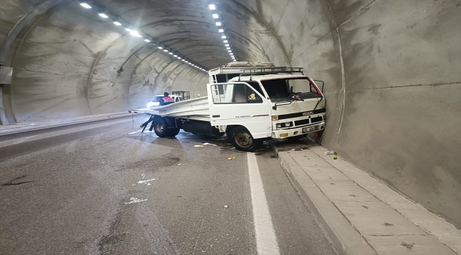
M 74 125 L 79 123 L 88 123 L 98 120 L 109 120 L 113 118 L 122 118 L 130 115 L 138 115 L 140 113 L 128 113 L 128 112 L 118 112 L 118 113 L 105 113 L 98 115 L 87 115 L 77 118 L 67 119 L 67 120 L 50 120 L 48 122 L 38 121 L 35 123 L 18 123 L 16 125 L 0 125 L 0 136 L 1 135 L 11 135 L 18 132 L 27 132 L 33 130 L 41 130 L 46 128 L 57 128 L 65 125 Z

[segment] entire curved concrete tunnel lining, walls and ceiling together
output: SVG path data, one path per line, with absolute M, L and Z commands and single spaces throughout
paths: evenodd
M 4 64 L 14 68 L 11 86 L 3 87 L 9 122 L 126 111 L 162 91 L 206 94 L 205 72 L 79 1 L 2 1 L 0 43 L 45 2 L 51 7 L 7 52 Z M 93 3 L 204 69 L 231 61 L 210 1 Z M 457 226 L 460 8 L 457 0 L 218 1 L 238 60 L 300 66 L 325 81 L 324 147 Z

